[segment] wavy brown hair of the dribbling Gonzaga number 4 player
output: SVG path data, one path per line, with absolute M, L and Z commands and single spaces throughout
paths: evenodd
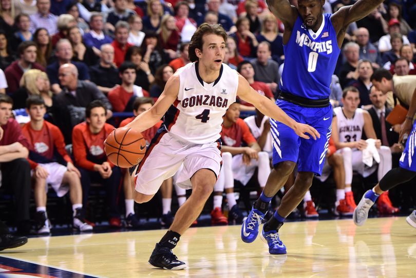
M 202 23 L 201 26 L 198 27 L 198 29 L 195 31 L 195 33 L 192 35 L 191 38 L 191 42 L 189 44 L 189 60 L 191 62 L 197 62 L 198 61 L 198 57 L 196 55 L 195 50 L 199 49 L 202 51 L 202 45 L 203 45 L 203 40 L 202 37 L 205 34 L 216 34 L 219 36 L 222 36 L 222 38 L 224 39 L 224 42 L 227 41 L 227 33 L 225 32 L 224 28 L 222 28 L 222 26 L 220 24 L 207 24 L 207 23 Z

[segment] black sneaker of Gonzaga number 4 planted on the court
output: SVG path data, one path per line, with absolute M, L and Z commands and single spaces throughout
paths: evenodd
M 153 249 L 152 255 L 150 255 L 149 264 L 167 270 L 180 270 L 187 267 L 184 262 L 178 260 L 178 257 L 174 255 L 172 249 L 162 247 L 158 243 L 155 249 Z

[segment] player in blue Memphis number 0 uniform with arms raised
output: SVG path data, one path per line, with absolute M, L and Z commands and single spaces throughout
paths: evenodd
M 315 127 L 322 136 L 317 140 L 304 140 L 284 123 L 270 119 L 274 169 L 241 227 L 244 242 L 251 243 L 257 237 L 270 200 L 285 184 L 297 163 L 298 175 L 293 187 L 282 198 L 278 210 L 264 224 L 261 233 L 271 254 L 286 254 L 286 246 L 279 238 L 279 228 L 299 205 L 312 184 L 313 176 L 322 173 L 325 162 L 332 131 L 331 77 L 346 29 L 382 2 L 358 0 L 331 15 L 323 14 L 325 0 L 298 0 L 297 8 L 288 0 L 267 0 L 270 10 L 285 25 L 283 49 L 286 61 L 276 104 L 296 121 Z

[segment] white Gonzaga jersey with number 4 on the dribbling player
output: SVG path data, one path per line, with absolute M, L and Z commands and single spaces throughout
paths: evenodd
M 182 141 L 215 142 L 221 137 L 222 116 L 236 100 L 237 71 L 222 64 L 219 77 L 211 84 L 199 76 L 197 63 L 187 64 L 175 74 L 179 74 L 179 94 L 164 116 L 164 127 Z

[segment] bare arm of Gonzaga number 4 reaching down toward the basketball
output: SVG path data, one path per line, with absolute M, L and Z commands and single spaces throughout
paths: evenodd
M 152 108 L 137 116 L 133 122 L 126 126 L 136 129 L 138 132 L 143 132 L 147 128 L 154 126 L 160 121 L 167 109 L 175 102 L 178 97 L 178 92 L 179 75 L 173 75 L 167 80 L 165 89 Z

